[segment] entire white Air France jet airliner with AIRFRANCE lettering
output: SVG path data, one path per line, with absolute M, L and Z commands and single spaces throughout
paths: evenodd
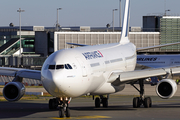
M 42 70 L 18 68 L 0 68 L 0 75 L 15 76 L 3 89 L 8 101 L 17 101 L 25 93 L 23 78 L 41 80 L 44 88 L 55 98 L 49 100 L 49 108 L 59 107 L 59 116 L 70 116 L 68 104 L 73 97 L 81 95 L 99 95 L 95 98 L 95 107 L 108 107 L 108 96 L 122 91 L 126 83 L 139 81 L 140 97 L 133 99 L 133 107 L 141 105 L 148 108 L 152 102 L 144 97 L 144 79 L 152 76 L 164 76 L 157 85 L 156 92 L 161 98 L 171 98 L 176 90 L 176 83 L 171 75 L 180 73 L 180 68 L 158 68 L 134 71 L 139 50 L 157 48 L 166 45 L 136 48 L 128 39 L 130 2 L 126 0 L 123 29 L 119 43 L 78 47 L 59 50 L 50 55 L 43 64 Z M 135 87 L 135 86 L 134 86 Z M 136 88 L 136 87 L 135 87 Z M 137 89 L 137 88 L 136 88 Z M 107 97 L 104 97 L 104 96 Z

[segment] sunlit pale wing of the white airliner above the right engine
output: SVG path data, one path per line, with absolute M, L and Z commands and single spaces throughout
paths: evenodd
M 177 73 L 180 73 L 180 67 L 112 72 L 107 82 L 114 84 L 129 83 L 137 81 L 138 79 L 145 79 L 153 76 L 167 76 L 169 74 L 172 75 Z

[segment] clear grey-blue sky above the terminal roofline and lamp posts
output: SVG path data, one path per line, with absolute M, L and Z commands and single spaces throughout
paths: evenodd
M 112 10 L 119 9 L 120 0 L 0 0 L 0 27 L 13 23 L 19 26 L 21 8 L 22 26 L 53 27 L 59 10 L 59 23 L 67 26 L 112 26 Z M 124 11 L 124 2 L 122 11 Z M 180 0 L 130 0 L 130 26 L 142 27 L 142 16 L 152 14 L 180 15 Z M 123 16 L 123 12 L 122 12 Z M 119 10 L 114 12 L 115 27 L 119 26 Z

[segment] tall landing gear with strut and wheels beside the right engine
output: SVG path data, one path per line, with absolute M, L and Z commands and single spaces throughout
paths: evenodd
M 133 99 L 133 107 L 139 108 L 141 105 L 144 105 L 145 108 L 149 108 L 152 106 L 152 100 L 150 97 L 144 97 L 144 80 L 139 80 L 139 87 L 140 90 L 134 86 L 134 84 L 131 84 L 137 91 L 140 93 L 140 97 L 135 97 Z

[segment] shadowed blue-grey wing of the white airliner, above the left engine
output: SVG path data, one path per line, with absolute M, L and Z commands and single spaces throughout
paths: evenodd
M 41 71 L 38 70 L 0 67 L 0 75 L 41 80 Z

